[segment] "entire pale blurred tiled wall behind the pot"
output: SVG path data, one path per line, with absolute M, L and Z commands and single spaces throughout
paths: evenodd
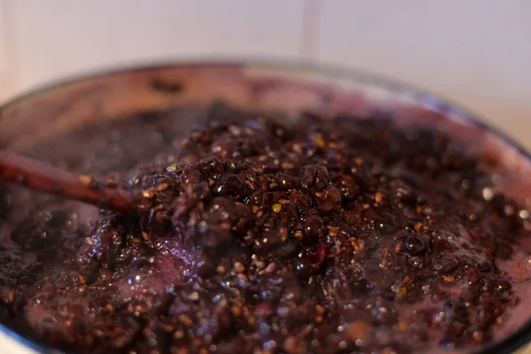
M 527 143 L 529 14 L 527 0 L 0 0 L 0 100 L 157 59 L 304 59 L 411 82 Z

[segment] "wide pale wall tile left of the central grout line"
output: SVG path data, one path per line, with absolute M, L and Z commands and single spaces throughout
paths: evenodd
M 97 68 L 172 58 L 299 58 L 304 7 L 270 0 L 0 0 L 11 92 Z M 5 42 L 5 41 L 4 41 Z M 310 41 L 312 42 L 312 41 Z M 4 85 L 5 86 L 5 85 Z M 5 89 L 4 89 L 5 90 Z

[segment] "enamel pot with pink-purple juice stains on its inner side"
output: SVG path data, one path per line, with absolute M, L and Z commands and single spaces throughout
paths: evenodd
M 38 89 L 5 104 L 0 108 L 0 147 L 39 156 L 44 144 L 85 125 L 123 119 L 135 112 L 182 107 L 200 110 L 214 101 L 243 109 L 283 112 L 288 119 L 296 119 L 301 111 L 323 116 L 349 112 L 363 118 L 375 109 L 388 110 L 399 125 L 450 132 L 474 158 L 500 161 L 502 168 L 493 171 L 499 178 L 499 188 L 521 205 L 531 200 L 530 155 L 510 138 L 483 125 L 481 119 L 418 89 L 325 67 L 194 62 L 97 73 Z M 59 154 L 40 158 L 52 161 Z M 70 154 L 75 156 L 76 151 Z M 0 241 L 4 236 L 0 234 Z M 524 267 L 519 263 L 515 266 Z M 494 342 L 479 353 L 514 353 L 531 340 L 528 282 L 521 281 L 521 302 L 496 330 Z M 0 324 L 0 348 L 10 354 L 60 352 L 35 340 L 18 323 L 7 322 Z

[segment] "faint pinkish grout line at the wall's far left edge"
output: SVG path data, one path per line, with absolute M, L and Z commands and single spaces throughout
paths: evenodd
M 0 99 L 11 96 L 18 87 L 19 60 L 15 30 L 15 0 L 0 0 L 0 35 L 4 44 L 4 71 L 0 71 Z

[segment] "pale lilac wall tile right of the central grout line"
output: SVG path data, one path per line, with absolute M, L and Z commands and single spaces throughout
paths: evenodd
M 318 58 L 434 91 L 531 148 L 531 1 L 336 0 Z

